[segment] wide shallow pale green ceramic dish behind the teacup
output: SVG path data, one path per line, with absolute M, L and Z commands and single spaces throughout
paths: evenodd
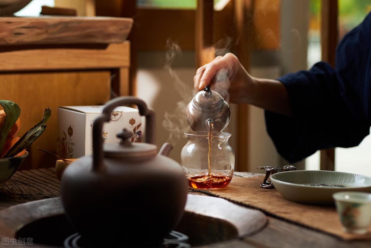
M 334 205 L 332 194 L 341 191 L 371 192 L 371 177 L 347 172 L 295 170 L 270 179 L 283 197 L 305 204 Z

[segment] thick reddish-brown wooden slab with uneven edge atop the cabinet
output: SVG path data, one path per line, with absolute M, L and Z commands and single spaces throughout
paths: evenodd
M 0 17 L 0 45 L 121 43 L 132 24 L 118 17 Z

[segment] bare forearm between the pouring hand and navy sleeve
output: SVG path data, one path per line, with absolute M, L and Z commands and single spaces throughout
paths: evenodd
M 247 103 L 265 110 L 292 117 L 292 108 L 286 87 L 277 80 L 252 78 L 253 94 Z

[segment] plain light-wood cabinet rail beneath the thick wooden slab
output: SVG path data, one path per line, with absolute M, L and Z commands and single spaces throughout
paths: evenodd
M 130 42 L 79 46 L 0 46 L 0 70 L 49 71 L 76 69 L 115 69 L 129 67 Z

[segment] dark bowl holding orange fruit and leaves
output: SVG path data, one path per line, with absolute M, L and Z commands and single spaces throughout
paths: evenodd
M 28 152 L 26 151 L 26 153 L 19 157 L 0 159 L 0 189 L 2 189 L 4 183 L 16 173 L 27 156 Z

